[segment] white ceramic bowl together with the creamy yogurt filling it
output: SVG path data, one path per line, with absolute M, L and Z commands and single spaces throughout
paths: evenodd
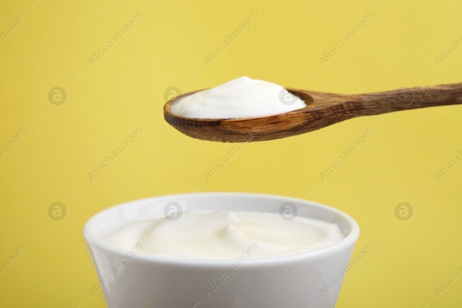
M 322 290 L 359 227 L 303 199 L 195 193 L 116 205 L 84 234 L 110 308 L 295 308 L 335 306 L 343 279 Z

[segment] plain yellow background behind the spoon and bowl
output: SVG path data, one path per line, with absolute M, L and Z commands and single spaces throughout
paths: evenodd
M 461 157 L 461 106 L 361 117 L 253 142 L 208 182 L 204 173 L 232 145 L 191 139 L 162 114 L 170 86 L 186 93 L 243 75 L 337 93 L 461 82 L 461 47 L 440 66 L 435 61 L 461 42 L 460 1 L 34 2 L 3 1 L 0 9 L 0 30 L 28 15 L 0 42 L 0 145 L 28 130 L 0 158 L 0 260 L 28 245 L 0 274 L 1 307 L 106 307 L 102 292 L 88 291 L 97 274 L 82 237 L 87 219 L 129 200 L 193 191 L 270 192 L 355 218 L 356 254 L 369 242 L 374 248 L 346 276 L 339 308 L 461 305 L 461 278 L 440 297 L 435 292 L 462 274 L 462 164 L 441 181 L 435 176 Z M 91 66 L 88 58 L 136 12 L 143 14 L 136 28 Z M 258 18 L 251 28 L 207 66 L 204 57 L 252 12 Z M 323 53 L 367 12 L 374 17 L 366 29 L 322 66 Z M 67 91 L 61 106 L 48 100 L 55 86 Z M 88 173 L 136 127 L 143 129 L 136 143 L 91 181 Z M 322 181 L 324 167 L 368 127 L 374 133 L 367 143 Z M 403 201 L 414 209 L 409 221 L 394 214 Z M 66 205 L 64 220 L 50 219 L 53 202 Z

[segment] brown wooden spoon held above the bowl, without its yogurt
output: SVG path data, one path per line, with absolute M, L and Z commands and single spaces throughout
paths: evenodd
M 202 90 L 201 90 L 202 91 Z M 379 115 L 432 106 L 462 103 L 462 83 L 432 87 L 402 87 L 398 90 L 369 94 L 332 94 L 290 90 L 306 107 L 280 115 L 249 119 L 198 119 L 175 115 L 165 103 L 164 118 L 180 132 L 201 140 L 248 142 L 285 138 L 332 125 L 362 115 Z M 183 94 L 183 97 L 195 92 Z

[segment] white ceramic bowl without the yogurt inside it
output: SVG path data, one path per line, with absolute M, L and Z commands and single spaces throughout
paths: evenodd
M 298 207 L 298 215 L 337 223 L 346 237 L 326 248 L 245 260 L 221 284 L 215 279 L 229 272 L 227 266 L 234 260 L 172 259 L 142 254 L 137 248 L 128 252 L 98 237 L 125 223 L 163 215 L 169 202 L 180 204 L 183 211 L 273 213 L 278 213 L 283 203 L 292 202 Z M 110 207 L 88 220 L 84 234 L 109 308 L 320 308 L 335 306 L 343 282 L 339 273 L 345 274 L 342 266 L 346 267 L 353 254 L 359 227 L 342 211 L 303 199 L 255 193 L 194 193 Z M 211 283 L 216 290 L 207 296 L 205 289 L 212 290 Z

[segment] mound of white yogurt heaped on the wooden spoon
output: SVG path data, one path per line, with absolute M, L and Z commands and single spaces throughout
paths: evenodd
M 304 107 L 302 99 L 282 86 L 243 76 L 183 97 L 171 106 L 171 111 L 188 118 L 244 119 L 280 115 Z

